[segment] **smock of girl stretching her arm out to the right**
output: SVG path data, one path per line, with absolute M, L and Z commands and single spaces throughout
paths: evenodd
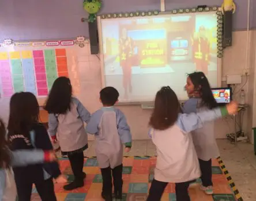
M 225 107 L 197 114 L 179 114 L 175 124 L 168 129 L 150 129 L 149 137 L 157 150 L 155 179 L 171 183 L 197 179 L 201 172 L 190 132 L 222 115 L 227 115 Z

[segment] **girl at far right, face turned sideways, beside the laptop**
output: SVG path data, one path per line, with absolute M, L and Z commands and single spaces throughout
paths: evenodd
M 183 106 L 184 113 L 197 113 L 217 107 L 210 84 L 203 72 L 189 74 L 185 88 L 190 99 Z M 194 130 L 192 138 L 202 172 L 201 189 L 212 195 L 212 158 L 220 156 L 214 136 L 214 122 L 207 122 L 204 127 Z

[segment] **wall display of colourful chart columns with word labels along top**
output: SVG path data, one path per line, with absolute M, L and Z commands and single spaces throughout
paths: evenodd
M 55 79 L 70 77 L 74 92 L 80 91 L 76 64 L 71 57 L 75 41 L 14 42 L 0 47 L 1 98 L 10 98 L 15 92 L 32 92 L 44 102 Z M 68 68 L 68 65 L 71 68 Z M 42 104 L 41 104 L 42 105 Z

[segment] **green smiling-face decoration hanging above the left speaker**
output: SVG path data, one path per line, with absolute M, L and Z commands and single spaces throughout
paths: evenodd
M 88 22 L 94 22 L 101 8 L 101 0 L 84 0 L 84 9 L 89 13 Z

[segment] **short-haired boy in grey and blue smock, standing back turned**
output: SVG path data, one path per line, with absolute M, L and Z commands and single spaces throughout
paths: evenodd
M 122 111 L 114 107 L 118 97 L 119 93 L 114 87 L 103 88 L 100 91 L 103 107 L 92 114 L 86 127 L 86 131 L 96 137 L 96 156 L 103 178 L 101 196 L 107 201 L 112 200 L 112 176 L 115 198 L 122 199 L 122 144 L 125 144 L 126 152 L 131 148 L 130 127 Z

